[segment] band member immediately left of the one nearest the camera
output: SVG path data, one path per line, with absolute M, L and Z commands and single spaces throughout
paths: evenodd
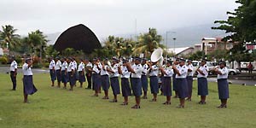
M 119 67 L 119 74 L 121 75 L 121 88 L 122 95 L 124 96 L 124 102 L 121 105 L 128 105 L 128 96 L 131 96 L 131 87 L 129 78 L 131 73 L 125 66 L 128 61 L 123 60 L 123 65 Z

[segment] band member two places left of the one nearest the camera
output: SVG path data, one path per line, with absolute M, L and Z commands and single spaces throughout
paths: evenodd
M 110 102 L 117 102 L 117 95 L 120 94 L 119 86 L 119 61 L 113 58 L 112 67 L 110 70 L 110 84 L 113 91 L 113 100 Z

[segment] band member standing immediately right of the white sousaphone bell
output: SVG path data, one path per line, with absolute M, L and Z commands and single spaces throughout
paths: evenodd
M 162 90 L 164 96 L 166 96 L 166 102 L 163 104 L 171 104 L 172 96 L 172 61 L 167 61 L 166 67 L 160 67 L 161 73 L 164 75 L 162 79 Z

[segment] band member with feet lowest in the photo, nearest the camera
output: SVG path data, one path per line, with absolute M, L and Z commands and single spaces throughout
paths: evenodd
M 126 67 L 128 68 L 128 71 L 131 72 L 131 90 L 133 92 L 133 95 L 135 96 L 136 105 L 134 105 L 131 108 L 137 109 L 141 108 L 141 96 L 142 96 L 142 73 L 143 73 L 143 66 L 141 65 L 141 59 L 136 58 L 134 61 L 134 65 L 131 66 L 131 64 L 126 63 Z

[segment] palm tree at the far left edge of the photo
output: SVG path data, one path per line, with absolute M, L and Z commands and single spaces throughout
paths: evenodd
M 10 25 L 2 26 L 2 29 L 3 31 L 0 31 L 1 46 L 3 48 L 7 48 L 9 45 L 9 50 L 15 49 L 15 47 L 18 46 L 20 43 L 20 35 L 15 34 L 17 29 L 15 29 L 14 26 Z

